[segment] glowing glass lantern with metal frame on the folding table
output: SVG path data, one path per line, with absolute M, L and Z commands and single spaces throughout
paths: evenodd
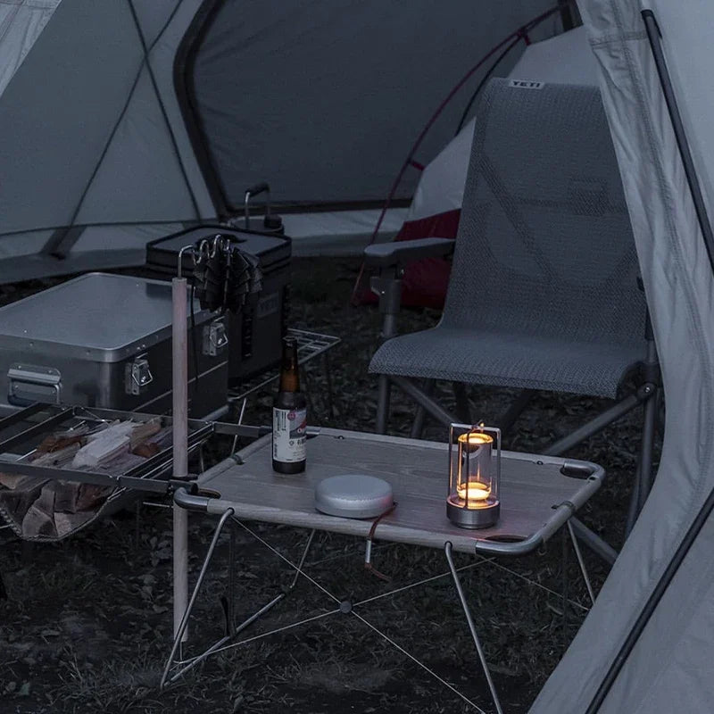
M 463 528 L 486 528 L 501 508 L 501 430 L 452 424 L 449 427 L 449 494 L 446 515 Z

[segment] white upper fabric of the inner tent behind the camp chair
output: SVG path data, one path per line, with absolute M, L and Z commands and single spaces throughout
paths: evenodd
M 509 71 L 509 65 L 504 63 L 497 76 L 594 85 L 597 83 L 596 72 L 585 28 L 580 27 L 527 46 L 512 70 Z M 473 133 L 474 122 L 470 120 L 428 163 L 414 191 L 407 221 L 461 209 Z

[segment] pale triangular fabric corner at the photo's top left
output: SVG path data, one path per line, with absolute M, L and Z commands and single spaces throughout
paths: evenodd
M 0 96 L 60 0 L 0 0 Z

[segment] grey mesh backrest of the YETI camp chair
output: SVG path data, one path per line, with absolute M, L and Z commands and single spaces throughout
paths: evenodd
M 491 80 L 476 113 L 444 327 L 643 344 L 637 273 L 599 90 Z

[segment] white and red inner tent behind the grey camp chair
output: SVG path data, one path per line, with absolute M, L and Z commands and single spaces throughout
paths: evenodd
M 597 65 L 584 27 L 526 46 L 513 69 L 507 74 L 504 69 L 500 65 L 494 74 L 512 79 L 597 84 Z M 395 240 L 456 237 L 473 131 L 471 119 L 425 167 Z M 449 263 L 440 258 L 409 266 L 403 280 L 403 303 L 441 307 L 449 271 Z

